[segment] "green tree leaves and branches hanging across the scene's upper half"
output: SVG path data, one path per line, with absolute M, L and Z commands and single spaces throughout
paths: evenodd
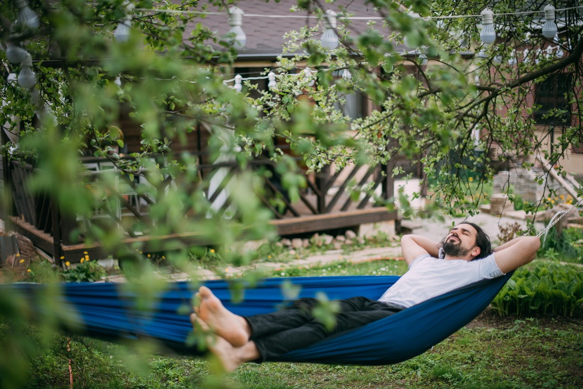
M 205 11 L 209 4 L 224 10 L 219 0 L 132 3 L 136 9 L 155 6 L 160 11 Z M 263 192 L 261 180 L 248 169 L 258 155 L 267 155 L 275 163 L 291 201 L 307 185 L 306 173 L 332 163 L 339 168 L 354 162 L 386 164 L 405 156 L 411 163 L 423 163 L 435 206 L 455 215 L 477 212 L 482 196 L 468 199 L 467 184 L 473 181 L 472 190 L 484 192 L 481 185 L 494 173 L 490 149 L 504 150 L 500 162 L 542 153 L 557 163 L 571 143 L 583 140 L 580 125 L 563 123 L 556 147 L 549 153 L 543 146 L 545 138 L 535 136 L 530 115 L 539 107 L 526 106 L 534 82 L 569 72 L 573 83 L 565 98 L 572 106 L 573 123 L 581 122 L 579 13 L 570 13 L 573 20 L 561 27 L 564 58 L 540 55 L 538 61 L 511 66 L 512 48 L 526 45 L 535 52 L 545 44 L 540 31 L 528 22 L 531 16 L 507 15 L 497 20 L 505 26 L 498 29 L 501 39 L 486 48 L 479 40 L 479 18 L 436 22 L 403 12 L 403 7 L 409 7 L 422 16 L 477 15 L 484 8 L 482 3 L 375 0 L 369 4 L 384 17 L 378 26 L 389 26 L 392 32 L 384 30 L 382 35 L 372 28 L 377 22 L 371 21 L 370 29 L 356 33 L 350 31 L 350 20 L 345 20 L 338 27 L 342 44 L 325 51 L 317 40 L 320 26 L 290 31 L 285 50 L 293 55 L 278 58 L 277 86 L 252 99 L 223 83 L 233 71 L 237 51 L 232 37 L 216 36 L 205 27 L 204 14 L 131 12 L 129 38 L 122 42 L 115 41 L 113 31 L 128 14 L 126 1 L 97 0 L 91 6 L 81 0 L 31 1 L 31 9 L 40 16 L 36 32 L 11 29 L 15 3 L 1 2 L 0 43 L 2 48 L 8 42 L 20 44 L 32 55 L 38 102 L 32 98 L 34 90 L 8 80 L 9 73 L 19 74 L 22 68 L 6 61 L 5 51 L 0 50 L 0 123 L 16 139 L 1 145 L 0 152 L 21 166 L 32 166 L 35 174 L 28 189 L 47 194 L 58 202 L 64 218 L 79 221 L 72 239 L 98 243 L 106 253 L 135 259 L 128 260 L 124 270 L 128 277 L 142 279 L 143 283 L 131 288 L 147 306 L 147 299 L 159 290 L 159 281 L 147 271 L 149 265 L 143 263 L 147 261 L 135 254 L 143 251 L 143 240 L 124 244 L 128 236 L 148 234 L 156 246 L 154 238 L 174 234 L 175 240 L 150 250 L 166 253 L 168 261 L 191 274 L 196 274 L 196 268 L 190 259 L 205 248 L 189 246 L 183 236 L 224 247 L 237 240 L 275 237 L 268 223 L 272 212 L 254 195 Z M 554 5 L 578 4 L 567 0 Z M 529 7 L 539 9 L 536 2 L 504 0 L 496 2 L 493 11 Z M 322 4 L 301 0 L 298 9 L 321 15 Z M 415 54 L 396 49 L 403 37 L 424 50 L 431 59 L 429 65 Z M 472 51 L 484 48 L 487 58 L 461 54 L 467 51 L 461 45 L 464 40 Z M 494 61 L 495 57 L 501 61 Z M 305 64 L 317 71 L 298 71 Z M 335 80 L 333 73 L 343 69 L 349 69 L 352 78 Z M 335 108 L 351 91 L 366 94 L 374 103 L 370 115 L 353 120 Z M 508 114 L 502 116 L 502 111 Z M 124 140 L 116 130 L 122 112 L 141 128 L 141 150 L 125 156 L 120 153 Z M 205 145 L 210 162 L 237 166 L 224 213 L 208 199 L 211 178 L 201 174 L 194 156 L 175 148 L 184 146 L 186 135 L 201 127 L 210 133 Z M 485 135 L 479 142 L 472 136 L 476 129 Z M 288 143 L 301 160 L 283 153 L 275 139 Z M 117 169 L 89 174 L 82 164 L 86 156 L 107 160 Z M 532 165 L 525 162 L 524 166 Z M 396 168 L 394 173 L 401 172 Z M 148 225 L 93 219 L 96 211 L 112 212 L 111 204 L 119 199 L 111 188 L 120 188 L 124 182 L 133 183 L 141 198 L 149 201 Z M 370 185 L 350 188 L 353 198 L 358 192 L 371 191 Z M 403 198 L 400 203 L 406 212 L 408 201 Z M 249 256 L 233 257 L 238 265 L 250 260 Z M 36 318 L 50 333 L 58 320 L 66 323 L 70 314 L 60 312 L 50 296 L 43 298 L 47 307 L 54 308 L 52 316 L 34 317 L 26 306 L 16 303 L 17 296 L 5 295 L 0 296 L 0 315 L 10 319 L 12 328 Z M 26 356 L 25 338 L 3 339 L 9 345 L 0 354 L 2 387 L 20 387 L 19 380 L 27 374 L 26 358 L 10 358 L 14 350 Z

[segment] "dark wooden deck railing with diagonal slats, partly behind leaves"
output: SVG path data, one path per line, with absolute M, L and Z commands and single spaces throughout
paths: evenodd
M 236 218 L 237 210 L 233 209 L 229 183 L 241 167 L 236 162 L 205 163 L 205 153 L 196 153 L 198 158 L 198 174 L 201 177 L 197 185 L 203 187 L 206 199 L 211 204 L 212 212 L 205 215 L 194 215 L 194 218 L 224 217 L 226 212 L 229 217 Z M 160 157 L 156 162 L 163 162 Z M 83 164 L 87 170 L 87 183 L 100 177 L 100 174 L 111 173 L 113 164 L 106 159 L 86 158 Z M 324 215 L 326 213 L 342 213 L 356 211 L 375 205 L 378 199 L 386 200 L 393 195 L 393 182 L 391 177 L 392 166 L 378 164 L 376 166 L 347 165 L 343 169 L 333 170 L 333 167 L 325 167 L 318 173 L 307 176 L 307 187 L 300 190 L 299 201 L 292 202 L 287 194 L 280 177 L 276 174 L 274 165 L 268 159 L 255 159 L 248 165 L 253 171 L 263 171 L 264 190 L 257 193 L 257 197 L 271 209 L 276 219 L 292 219 L 310 215 Z M 52 245 L 48 239 L 41 244 L 43 250 L 60 258 L 62 245 L 71 245 L 83 241 L 84 232 L 90 223 L 111 227 L 116 225 L 124 230 L 128 237 L 147 236 L 147 233 L 161 223 L 162 220 L 154 220 L 150 216 L 150 207 L 156 204 L 156 198 L 141 190 L 143 185 L 149 185 L 140 176 L 129 180 L 127 175 L 114 172 L 113 184 L 108 182 L 106 191 L 108 196 L 101 202 L 97 202 L 90 218 L 77 216 L 71 218 L 59 211 L 50 191 L 32 192 L 29 189 L 29 180 L 37 171 L 31 164 L 12 162 L 10 164 L 10 179 L 12 183 L 13 200 L 15 209 L 12 216 L 23 220 L 34 229 L 52 236 Z M 165 177 L 157 195 L 163 196 L 165 188 L 174 185 L 175 181 Z M 347 193 L 350 187 L 367 186 L 368 191 L 360 194 L 356 201 Z M 89 185 L 90 186 L 90 185 Z M 191 188 L 194 189 L 194 188 Z M 189 190 L 189 188 L 184 188 Z M 374 198 L 373 198 L 374 197 Z M 140 228 L 136 228 L 136 223 Z M 76 241 L 73 241 L 73 238 Z M 38 240 L 38 239 L 37 239 Z

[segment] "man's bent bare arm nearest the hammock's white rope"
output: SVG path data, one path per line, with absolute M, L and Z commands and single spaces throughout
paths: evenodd
M 519 236 L 494 248 L 496 265 L 503 273 L 518 269 L 535 259 L 539 247 L 538 236 Z

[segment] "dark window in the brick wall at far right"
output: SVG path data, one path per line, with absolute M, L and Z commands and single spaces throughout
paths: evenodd
M 565 94 L 571 89 L 571 82 L 570 74 L 559 73 L 535 85 L 535 104 L 541 107 L 533 113 L 533 118 L 538 124 L 571 124 L 571 105 L 565 98 Z M 565 112 L 553 113 L 554 110 Z

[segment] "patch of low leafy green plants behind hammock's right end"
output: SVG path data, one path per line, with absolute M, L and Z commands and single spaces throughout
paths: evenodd
M 519 268 L 492 302 L 500 316 L 573 316 L 583 303 L 583 274 L 559 264 Z

